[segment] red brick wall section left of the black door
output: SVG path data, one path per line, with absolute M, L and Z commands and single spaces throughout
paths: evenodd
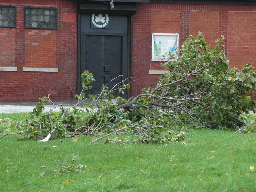
M 2 0 L 0 5 L 16 6 L 16 28 L 0 27 L 0 67 L 7 62 L 14 65 L 6 67 L 17 67 L 0 71 L 0 102 L 38 101 L 48 94 L 53 101 L 71 100 L 77 77 L 76 1 Z M 56 7 L 58 28 L 25 29 L 24 6 Z M 5 40 L 2 35 L 10 37 Z M 2 50 L 9 57 L 3 57 Z M 23 67 L 58 68 L 58 72 L 23 71 Z

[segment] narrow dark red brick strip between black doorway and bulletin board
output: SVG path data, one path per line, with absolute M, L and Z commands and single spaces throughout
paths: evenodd
M 142 4 L 133 17 L 133 81 L 132 94 L 154 86 L 157 76 L 149 76 L 151 58 L 151 10 Z

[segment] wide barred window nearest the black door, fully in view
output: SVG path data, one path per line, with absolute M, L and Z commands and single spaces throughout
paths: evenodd
M 57 29 L 57 9 L 24 7 L 24 27 L 37 29 Z

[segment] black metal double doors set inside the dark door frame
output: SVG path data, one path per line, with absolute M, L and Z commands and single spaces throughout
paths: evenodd
M 109 89 L 122 81 L 123 37 L 112 35 L 83 35 L 81 52 L 81 69 L 90 71 L 95 81 L 88 94 L 99 94 L 102 85 Z M 118 90 L 115 97 L 121 96 Z

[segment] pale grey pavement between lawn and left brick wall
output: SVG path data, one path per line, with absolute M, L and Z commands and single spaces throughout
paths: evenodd
M 88 99 L 83 103 L 91 103 L 92 100 Z M 61 105 L 63 108 L 71 107 L 74 104 L 78 103 L 78 100 L 73 101 L 52 101 L 54 105 Z M 34 108 L 36 108 L 36 104 L 38 102 L 0 102 L 0 114 L 1 113 L 19 113 L 19 112 L 32 112 Z M 54 111 L 60 111 L 60 107 L 58 106 L 54 109 Z M 53 104 L 51 102 L 45 102 L 45 112 L 48 112 L 50 109 L 53 109 Z M 86 110 L 86 108 L 82 108 L 81 104 L 77 105 L 77 108 Z

